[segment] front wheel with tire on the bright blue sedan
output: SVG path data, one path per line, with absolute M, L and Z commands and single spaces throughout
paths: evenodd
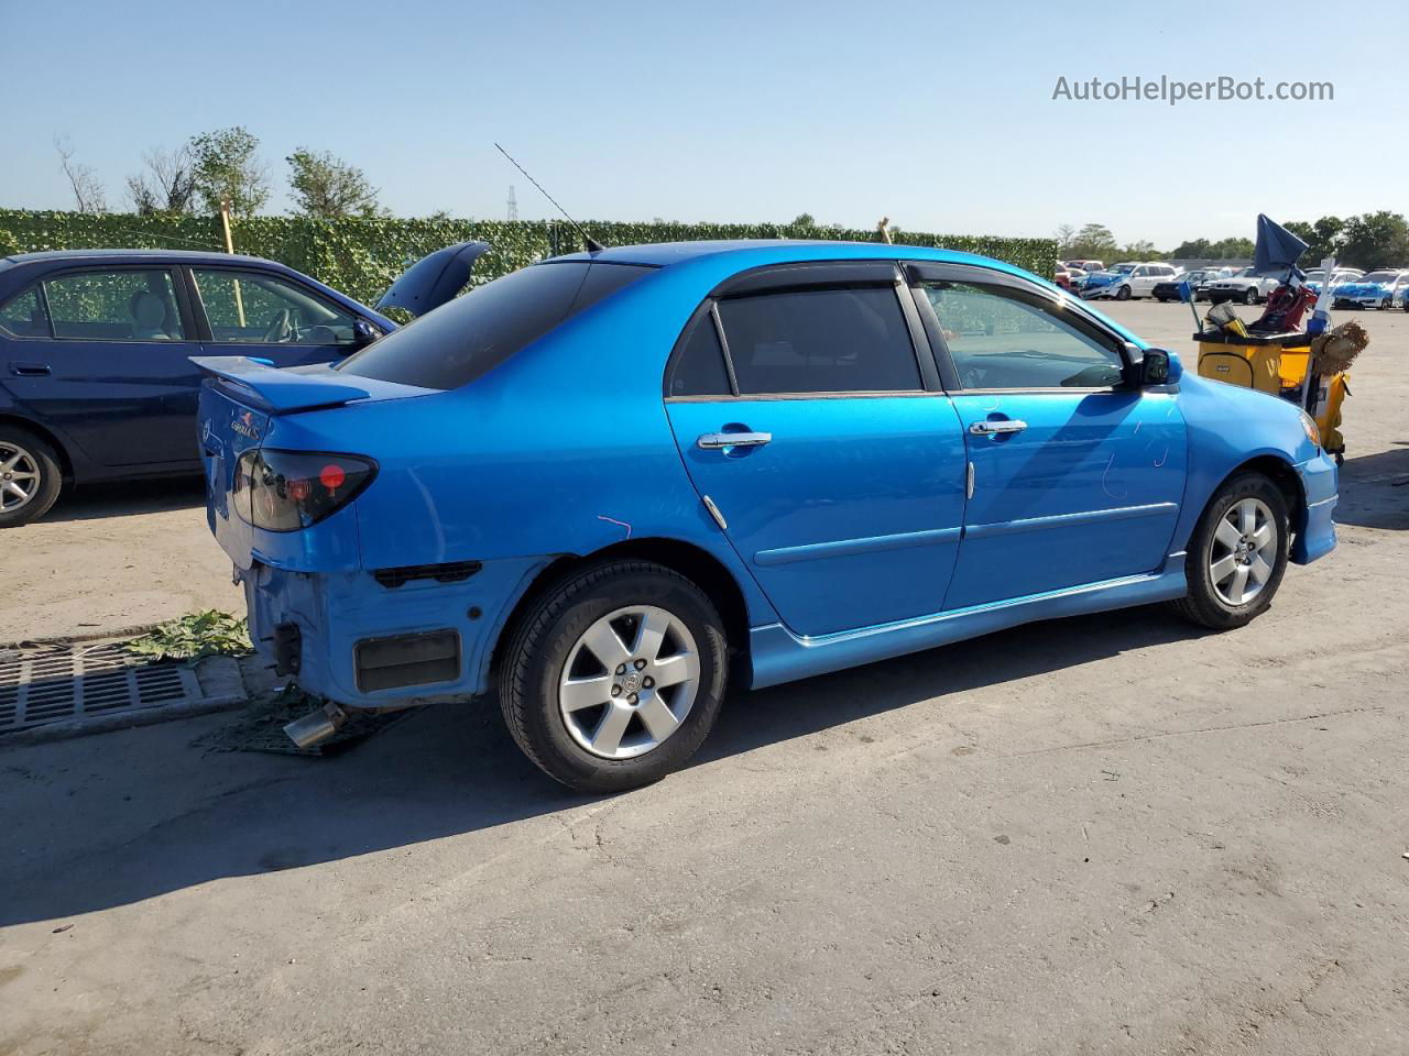
M 1244 627 L 1272 604 L 1286 573 L 1286 498 L 1261 473 L 1229 480 L 1209 501 L 1189 541 L 1189 593 L 1174 603 L 1185 620 L 1215 631 Z

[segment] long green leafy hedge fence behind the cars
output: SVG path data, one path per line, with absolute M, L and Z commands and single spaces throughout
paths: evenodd
M 627 224 L 593 220 L 583 227 L 606 245 L 719 238 L 876 241 L 875 231 L 792 224 Z M 235 252 L 279 260 L 365 303 L 375 303 L 411 260 L 471 238 L 493 246 L 475 266 L 476 282 L 497 279 L 545 256 L 582 248 L 576 232 L 559 221 L 249 217 L 234 222 Z M 1057 260 L 1057 244 L 1048 238 L 903 231 L 896 241 L 983 253 L 1041 276 L 1051 276 Z M 39 249 L 104 248 L 218 251 L 224 248 L 224 238 L 218 217 L 0 210 L 0 256 Z

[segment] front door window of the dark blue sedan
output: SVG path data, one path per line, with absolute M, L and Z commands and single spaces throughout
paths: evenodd
M 254 345 L 351 345 L 356 318 L 296 283 L 263 272 L 193 268 L 214 341 Z

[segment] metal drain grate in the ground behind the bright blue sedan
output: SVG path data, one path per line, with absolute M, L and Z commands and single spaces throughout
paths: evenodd
M 113 642 L 0 650 L 0 734 L 201 697 L 196 669 Z

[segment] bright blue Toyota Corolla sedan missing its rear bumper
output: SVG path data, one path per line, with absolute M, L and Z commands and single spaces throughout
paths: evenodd
M 252 636 L 334 701 L 293 732 L 496 687 L 583 790 L 682 766 L 726 686 L 1155 601 L 1234 628 L 1336 545 L 1295 406 L 955 252 L 607 249 L 333 367 L 200 365 Z

